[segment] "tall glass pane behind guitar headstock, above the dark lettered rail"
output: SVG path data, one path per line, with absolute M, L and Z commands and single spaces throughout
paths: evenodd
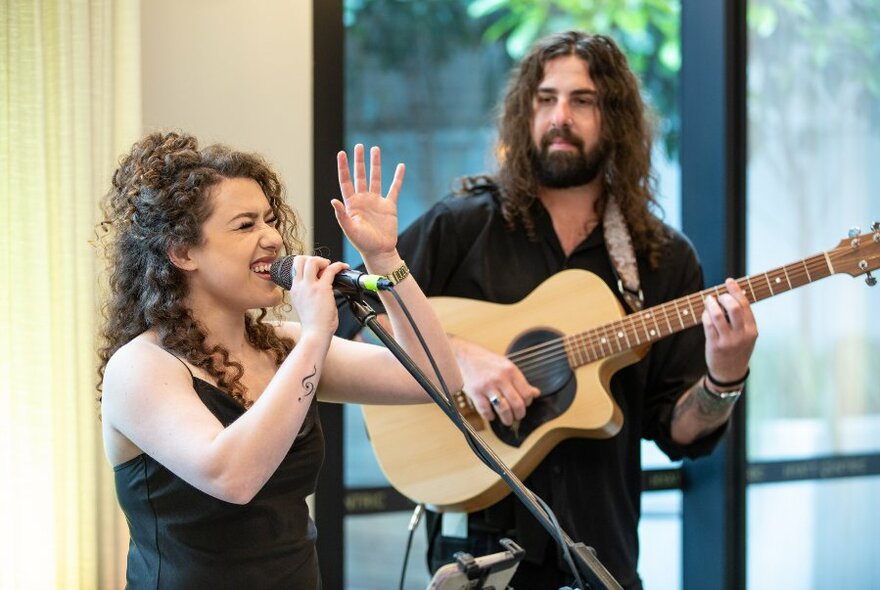
M 876 2 L 750 3 L 750 274 L 880 217 L 878 28 Z M 880 449 L 878 304 L 880 290 L 838 274 L 755 306 L 751 459 Z

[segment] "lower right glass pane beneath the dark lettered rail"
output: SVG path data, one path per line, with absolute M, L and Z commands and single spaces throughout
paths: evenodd
M 877 588 L 880 478 L 749 487 L 748 588 Z

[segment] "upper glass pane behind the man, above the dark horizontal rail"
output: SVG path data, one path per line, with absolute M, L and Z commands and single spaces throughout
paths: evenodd
M 680 227 L 677 0 L 630 2 L 601 13 L 589 7 L 565 12 L 559 6 L 567 3 L 552 2 L 554 18 L 544 20 L 515 2 L 494 3 L 486 14 L 477 6 L 485 3 L 468 0 L 395 2 L 393 9 L 389 2 L 345 2 L 345 128 L 346 145 L 380 145 L 386 169 L 406 163 L 401 228 L 449 194 L 456 178 L 493 168 L 495 106 L 515 58 L 533 39 L 569 27 L 611 28 L 640 74 L 657 112 L 654 165 L 661 213 Z M 534 27 L 527 35 L 510 30 L 504 43 L 493 42 L 488 29 L 504 15 Z M 347 243 L 345 248 L 344 259 L 358 263 L 357 252 Z M 363 452 L 360 412 L 346 411 L 345 417 L 346 485 L 377 485 L 384 477 Z M 653 443 L 644 443 L 643 453 L 646 466 L 670 465 Z M 372 483 L 361 483 L 366 481 Z

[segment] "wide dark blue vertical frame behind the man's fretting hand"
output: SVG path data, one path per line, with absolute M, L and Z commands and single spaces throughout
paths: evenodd
M 682 2 L 682 222 L 706 282 L 741 276 L 746 0 Z M 684 466 L 686 589 L 745 588 L 745 412 L 711 457 Z

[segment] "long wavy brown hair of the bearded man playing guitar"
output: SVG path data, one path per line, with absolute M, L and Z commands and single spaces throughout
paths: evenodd
M 659 209 L 656 181 L 651 169 L 653 130 L 639 92 L 639 82 L 620 48 L 603 35 L 568 31 L 538 41 L 514 70 L 498 119 L 496 156 L 499 168 L 488 176 L 462 179 L 460 192 L 485 190 L 493 183 L 508 226 L 521 223 L 534 239 L 532 205 L 538 183 L 533 171 L 537 148 L 532 140 L 533 100 L 544 78 L 544 66 L 558 57 L 576 55 L 589 66 L 598 90 L 602 113 L 600 140 L 607 147 L 607 166 L 602 176 L 604 194 L 614 195 L 626 218 L 637 252 L 659 263 L 667 241 L 663 224 L 651 212 Z

